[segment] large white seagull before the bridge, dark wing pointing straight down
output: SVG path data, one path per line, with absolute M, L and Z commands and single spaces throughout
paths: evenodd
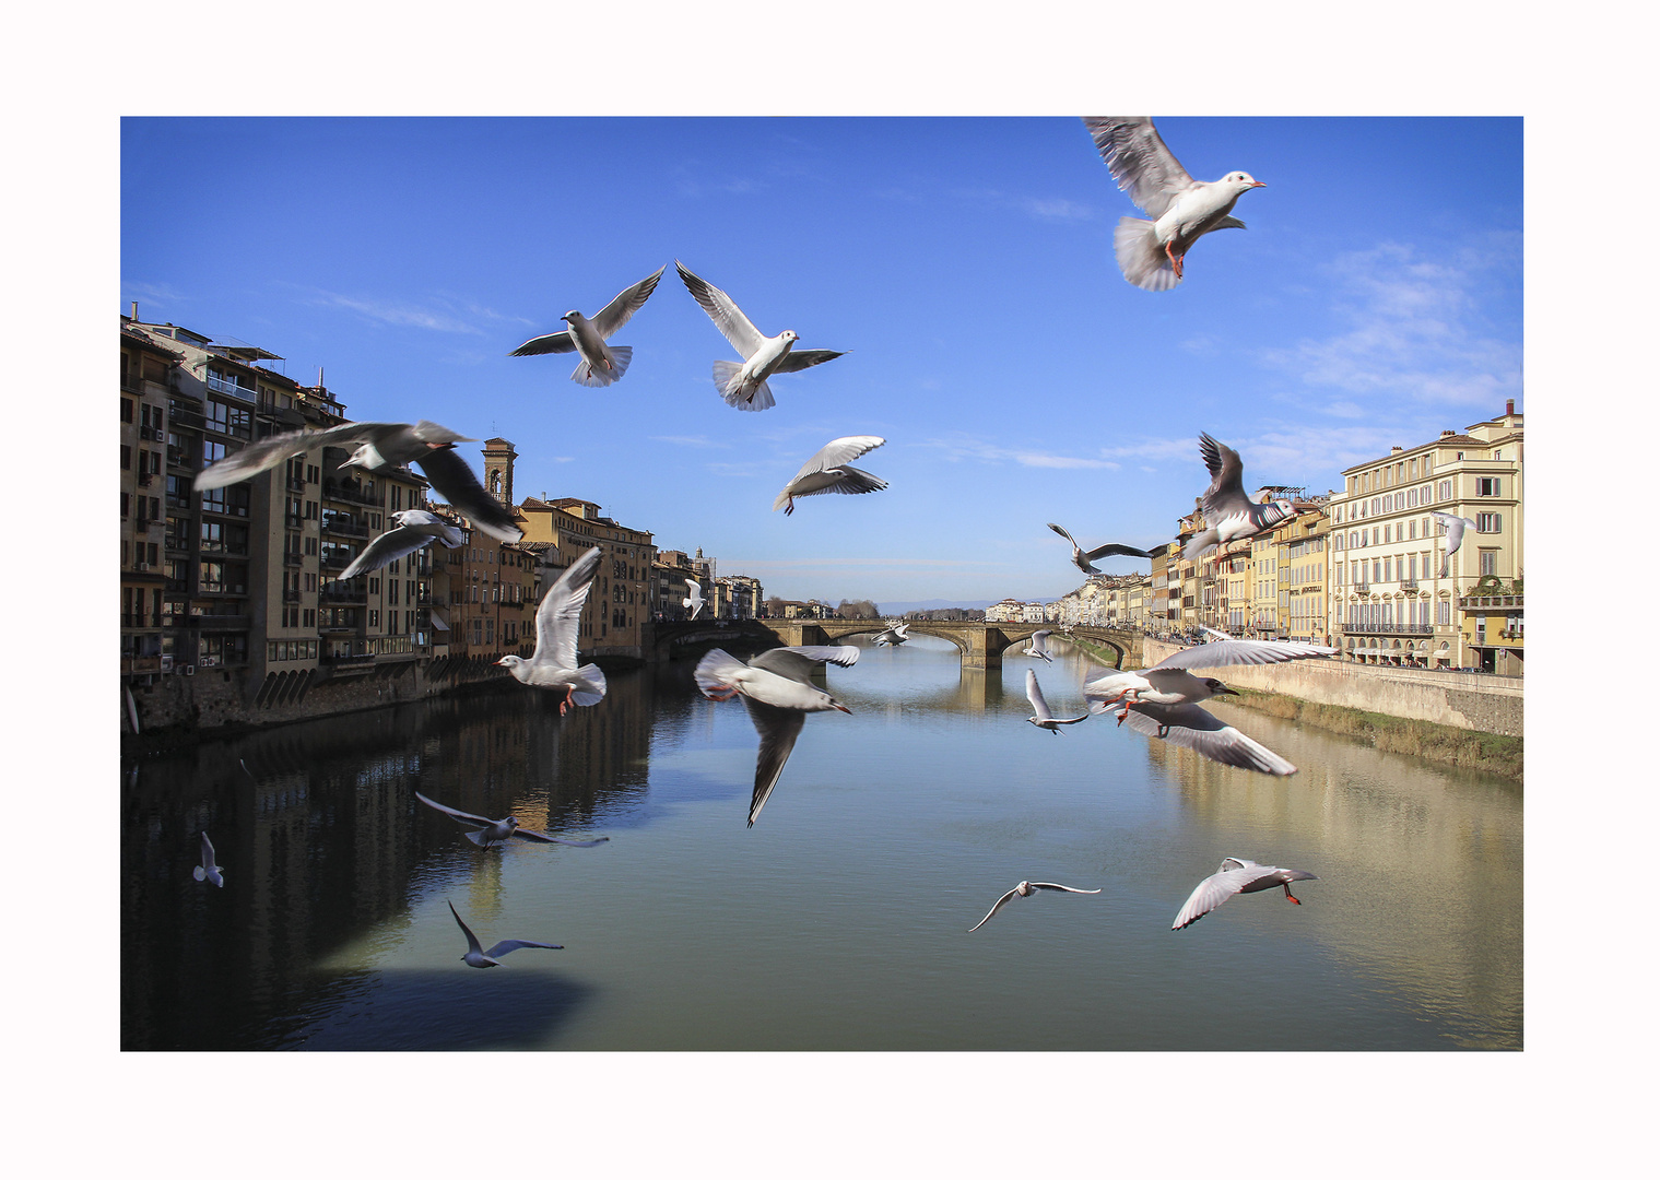
M 784 763 L 802 735 L 807 714 L 837 709 L 853 712 L 807 677 L 818 664 L 850 667 L 858 661 L 858 647 L 774 647 L 750 657 L 749 664 L 729 656 L 719 647 L 710 649 L 697 662 L 694 677 L 697 687 L 710 700 L 730 700 L 742 695 L 749 719 L 760 734 L 760 753 L 755 758 L 755 792 L 749 802 L 749 826 L 767 805 L 767 797 L 779 785 Z

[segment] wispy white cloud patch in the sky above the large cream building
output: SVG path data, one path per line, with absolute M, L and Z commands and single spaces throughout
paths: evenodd
M 1325 267 L 1341 292 L 1333 314 L 1346 330 L 1267 349 L 1260 358 L 1310 390 L 1351 398 L 1379 395 L 1419 405 L 1492 407 L 1522 383 L 1521 340 L 1494 332 L 1487 307 L 1509 299 L 1504 284 L 1519 264 L 1521 241 L 1497 236 L 1424 257 L 1384 242 Z

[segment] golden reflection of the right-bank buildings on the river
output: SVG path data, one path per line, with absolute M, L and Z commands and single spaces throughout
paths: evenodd
M 1199 876 L 1223 856 L 1308 870 L 1326 886 L 1301 898 L 1318 923 L 1311 934 L 1328 948 L 1363 959 L 1394 986 L 1428 992 L 1431 1006 L 1521 1011 L 1521 905 L 1514 923 L 1494 923 L 1491 906 L 1494 896 L 1522 891 L 1517 787 L 1268 714 L 1215 702 L 1205 709 L 1300 770 L 1257 775 L 1135 739 L 1200 825 L 1258 833 L 1257 846 L 1220 846 L 1238 843 L 1220 835 L 1210 865 L 1194 866 Z M 1350 865 L 1345 880 L 1323 873 L 1323 860 Z M 1172 898 L 1172 914 L 1179 905 Z

